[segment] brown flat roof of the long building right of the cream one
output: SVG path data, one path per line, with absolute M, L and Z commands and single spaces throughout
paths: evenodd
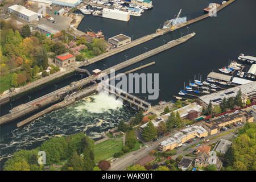
M 226 123 L 236 118 L 242 118 L 242 117 L 243 117 L 242 113 L 231 114 L 222 118 L 217 118 L 212 121 L 205 122 L 203 125 L 207 126 L 210 130 L 214 130 L 214 129 L 218 129 L 220 127 L 219 125 L 222 123 Z

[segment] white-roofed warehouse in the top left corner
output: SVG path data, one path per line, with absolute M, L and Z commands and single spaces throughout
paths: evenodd
M 8 12 L 28 22 L 38 19 L 38 13 L 26 9 L 24 6 L 13 5 L 8 7 Z

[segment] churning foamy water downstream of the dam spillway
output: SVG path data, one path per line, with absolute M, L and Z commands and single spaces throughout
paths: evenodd
M 2 128 L 0 160 L 15 151 L 38 147 L 44 140 L 53 137 L 84 132 L 91 138 L 99 138 L 103 131 L 117 126 L 121 119 L 128 121 L 135 113 L 133 109 L 123 106 L 121 100 L 105 93 L 89 98 L 45 114 L 22 129 L 5 132 Z

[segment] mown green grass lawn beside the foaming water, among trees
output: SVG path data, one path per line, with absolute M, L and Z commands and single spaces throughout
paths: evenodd
M 111 158 L 123 148 L 123 140 L 108 139 L 95 145 L 94 155 L 96 162 Z

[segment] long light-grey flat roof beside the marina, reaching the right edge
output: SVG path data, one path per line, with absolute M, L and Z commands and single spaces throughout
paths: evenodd
M 224 97 L 236 97 L 239 89 L 241 89 L 242 94 L 245 94 L 246 96 L 254 95 L 256 94 L 256 81 L 250 82 L 249 84 L 235 86 L 226 90 L 221 90 L 212 94 L 207 94 L 199 97 L 199 100 L 204 101 L 206 104 L 209 104 L 209 102 L 212 101 L 213 105 L 219 105 Z

